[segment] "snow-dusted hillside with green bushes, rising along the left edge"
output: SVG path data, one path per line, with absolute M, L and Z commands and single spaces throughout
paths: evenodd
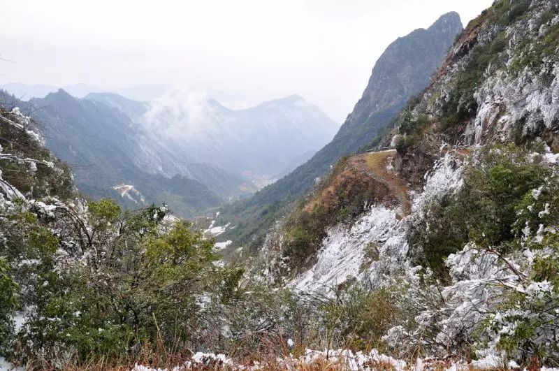
M 169 349 L 202 344 L 222 314 L 197 298 L 226 305 L 242 270 L 215 265 L 214 241 L 168 212 L 86 201 L 38 123 L 0 108 L 0 367 L 133 365 L 160 331 Z M 175 326 L 189 331 L 170 335 Z

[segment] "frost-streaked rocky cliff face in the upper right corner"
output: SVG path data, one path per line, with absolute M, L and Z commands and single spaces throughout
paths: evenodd
M 473 20 L 421 100 L 400 115 L 395 168 L 421 182 L 442 143 L 558 145 L 558 4 L 497 1 Z

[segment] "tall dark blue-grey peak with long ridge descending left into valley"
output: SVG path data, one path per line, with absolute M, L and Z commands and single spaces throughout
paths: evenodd
M 429 84 L 431 75 L 461 30 L 458 14 L 448 13 L 428 29 L 417 29 L 391 43 L 372 69 L 363 97 L 331 143 L 250 200 L 224 210 L 224 217 L 230 215 L 245 226 L 235 228 L 233 235 L 225 234 L 224 238 L 259 245 L 264 231 L 289 209 L 294 199 L 311 189 L 337 159 L 368 145 L 407 100 Z

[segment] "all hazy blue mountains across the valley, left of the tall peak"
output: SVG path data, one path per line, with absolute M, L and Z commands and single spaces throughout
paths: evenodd
M 41 122 L 48 147 L 71 164 L 85 194 L 128 208 L 166 202 L 184 217 L 254 193 L 336 128 L 298 96 L 239 111 L 185 99 L 147 103 L 105 92 L 78 99 L 63 89 L 27 102 L 0 96 Z

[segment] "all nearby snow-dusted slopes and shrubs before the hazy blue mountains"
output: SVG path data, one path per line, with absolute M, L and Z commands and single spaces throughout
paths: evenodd
M 1 110 L 0 356 L 138 371 L 559 367 L 558 30 L 556 1 L 495 1 L 394 127 L 235 261 L 218 261 L 233 242 L 214 237 L 242 226 L 86 201 L 33 120 Z

